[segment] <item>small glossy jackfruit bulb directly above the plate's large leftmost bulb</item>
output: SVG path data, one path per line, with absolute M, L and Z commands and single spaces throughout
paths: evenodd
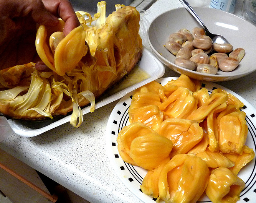
M 137 109 L 129 109 L 130 123 L 140 122 L 149 126 L 153 130 L 157 130 L 163 120 L 163 112 L 161 112 L 159 107 L 155 105 L 144 106 Z

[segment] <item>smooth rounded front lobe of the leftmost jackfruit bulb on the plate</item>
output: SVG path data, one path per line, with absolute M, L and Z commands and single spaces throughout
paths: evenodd
M 172 141 L 157 134 L 149 133 L 132 140 L 130 158 L 137 166 L 144 169 L 155 169 L 164 160 L 170 160 Z

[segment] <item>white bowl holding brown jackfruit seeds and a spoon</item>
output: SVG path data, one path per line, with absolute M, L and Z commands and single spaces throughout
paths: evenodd
M 181 28 L 192 31 L 200 24 L 185 8 L 169 10 L 157 16 L 149 26 L 147 39 L 155 55 L 167 67 L 190 78 L 205 81 L 227 81 L 241 78 L 256 70 L 256 27 L 233 14 L 214 8 L 193 8 L 201 18 L 205 26 L 213 34 L 221 34 L 233 45 L 234 49 L 242 47 L 245 50 L 244 58 L 238 67 L 230 72 L 218 71 L 216 75 L 198 73 L 175 65 L 175 55 L 171 54 L 165 47 L 170 34 L 178 32 Z

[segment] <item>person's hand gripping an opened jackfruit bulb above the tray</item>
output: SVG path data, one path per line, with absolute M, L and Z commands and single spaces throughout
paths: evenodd
M 0 0 L 0 70 L 36 62 L 36 23 L 56 26 L 66 23 L 64 34 L 79 26 L 68 0 Z

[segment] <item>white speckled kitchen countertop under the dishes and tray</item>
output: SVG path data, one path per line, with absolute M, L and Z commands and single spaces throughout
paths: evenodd
M 181 6 L 178 0 L 157 0 L 146 17 L 152 21 L 160 13 Z M 241 0 L 236 6 L 241 6 Z M 239 14 L 238 9 L 235 14 Z M 163 77 L 170 76 L 178 74 L 166 68 Z M 218 84 L 256 107 L 256 72 Z M 106 153 L 107 120 L 117 102 L 84 115 L 79 128 L 66 123 L 31 138 L 11 133 L 0 148 L 92 203 L 141 203 L 119 180 Z

